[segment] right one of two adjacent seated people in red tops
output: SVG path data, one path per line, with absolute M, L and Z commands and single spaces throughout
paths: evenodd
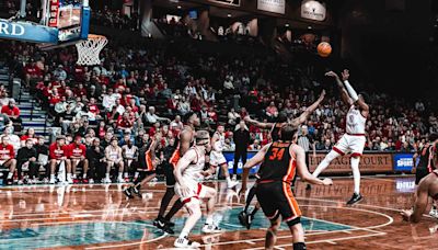
M 89 180 L 87 179 L 87 172 L 89 170 L 89 160 L 87 159 L 87 155 L 85 155 L 87 147 L 85 147 L 85 145 L 82 144 L 81 136 L 74 137 L 74 143 L 68 145 L 68 151 L 69 151 L 69 159 L 71 161 L 73 182 L 78 182 L 77 177 L 76 177 L 76 168 L 79 164 L 82 164 L 82 169 L 83 169 L 82 182 L 89 183 Z

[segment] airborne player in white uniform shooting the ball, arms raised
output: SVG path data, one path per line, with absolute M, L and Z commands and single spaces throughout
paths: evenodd
M 324 169 L 326 169 L 338 156 L 344 156 L 345 154 L 351 154 L 350 163 L 353 170 L 353 178 L 355 182 L 355 192 L 351 198 L 347 202 L 348 205 L 353 205 L 362 200 L 360 195 L 360 171 L 359 162 L 360 156 L 362 155 L 365 143 L 367 138 L 365 136 L 365 124 L 367 122 L 367 116 L 369 114 L 369 107 L 364 100 L 362 95 L 358 95 L 353 87 L 348 82 L 349 72 L 344 70 L 342 72 L 343 81 L 339 77 L 330 71 L 325 73 L 327 77 L 334 77 L 336 79 L 337 86 L 341 91 L 341 96 L 343 101 L 349 106 L 347 117 L 346 117 L 346 133 L 333 147 L 333 149 L 325 156 L 324 160 L 318 166 L 313 172 L 313 177 L 320 175 Z

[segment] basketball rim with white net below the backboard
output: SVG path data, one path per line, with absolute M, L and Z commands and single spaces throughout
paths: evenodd
M 78 65 L 100 65 L 101 59 L 99 54 L 102 48 L 108 43 L 103 35 L 89 34 L 89 38 L 76 44 L 78 48 Z

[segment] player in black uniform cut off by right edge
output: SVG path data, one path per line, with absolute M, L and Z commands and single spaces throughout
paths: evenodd
M 435 145 L 438 143 L 438 134 L 430 134 L 428 138 L 428 143 L 424 145 L 414 155 L 414 168 L 412 172 L 415 173 L 415 192 L 414 192 L 414 201 L 416 201 L 416 191 L 418 189 L 418 183 L 422 181 L 423 178 L 427 177 L 436 168 L 434 164 L 434 150 Z M 416 159 L 419 156 L 418 164 L 416 164 Z M 430 216 L 437 217 L 437 209 L 435 204 L 433 209 L 429 213 Z

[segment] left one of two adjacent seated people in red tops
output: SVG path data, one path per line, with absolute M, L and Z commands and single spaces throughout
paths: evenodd
M 48 148 L 49 156 L 50 156 L 50 184 L 55 184 L 55 172 L 58 166 L 62 162 L 67 169 L 67 182 L 69 184 L 73 183 L 71 179 L 71 162 L 68 159 L 68 146 L 66 145 L 66 137 L 58 136 L 56 141 L 50 145 Z M 60 180 L 64 181 L 64 180 Z

